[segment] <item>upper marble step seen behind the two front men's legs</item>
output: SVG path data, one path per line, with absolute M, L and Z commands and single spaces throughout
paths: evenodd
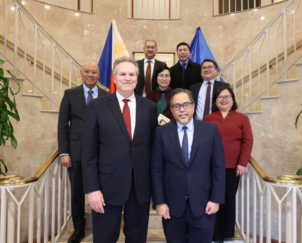
M 120 223 L 120 228 L 123 229 L 124 227 L 124 220 L 123 220 L 124 212 L 122 213 L 122 220 Z M 85 219 L 86 219 L 86 225 L 85 229 L 92 229 L 92 217 L 91 217 L 91 207 L 89 206 L 89 203 L 85 204 Z M 156 210 L 153 210 L 150 205 L 150 213 L 149 213 L 149 228 L 162 228 L 162 217 L 160 217 Z M 73 229 L 72 219 L 69 220 L 67 224 L 68 229 Z

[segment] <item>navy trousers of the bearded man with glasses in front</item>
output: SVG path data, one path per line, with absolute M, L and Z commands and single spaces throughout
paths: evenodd
M 212 242 L 215 213 L 195 217 L 192 213 L 190 203 L 187 201 L 182 217 L 170 216 L 171 219 L 165 220 L 162 218 L 162 226 L 167 243 Z

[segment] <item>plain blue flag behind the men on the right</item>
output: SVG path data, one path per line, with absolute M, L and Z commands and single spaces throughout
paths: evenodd
M 202 34 L 200 27 L 196 29 L 195 36 L 190 44 L 190 52 L 190 59 L 196 63 L 201 64 L 204 59 L 211 59 L 215 61 L 215 58 L 213 57 L 210 48 L 207 45 L 206 40 L 204 39 L 204 35 Z M 217 69 L 219 72 L 220 68 L 218 64 Z

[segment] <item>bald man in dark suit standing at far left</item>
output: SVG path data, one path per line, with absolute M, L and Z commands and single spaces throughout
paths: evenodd
M 100 72 L 94 62 L 86 62 L 80 72 L 83 84 L 65 90 L 58 120 L 60 161 L 64 167 L 68 167 L 71 185 L 74 233 L 69 238 L 68 243 L 77 243 L 85 236 L 85 195 L 83 194 L 81 157 L 84 123 L 88 106 L 87 99 L 90 101 L 92 98 L 110 94 L 96 85 Z

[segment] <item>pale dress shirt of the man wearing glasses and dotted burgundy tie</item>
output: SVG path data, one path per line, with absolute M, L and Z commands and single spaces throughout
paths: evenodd
M 211 82 L 211 92 L 210 92 L 210 111 L 209 114 L 212 113 L 212 96 L 213 96 L 213 87 L 214 87 L 214 81 L 215 79 L 212 79 L 210 81 L 203 81 L 201 84 L 201 87 L 199 89 L 198 98 L 197 98 L 197 107 L 196 107 L 196 114 L 195 118 L 198 120 L 202 120 L 204 117 L 204 103 L 206 101 L 206 94 L 207 94 L 207 82 Z

